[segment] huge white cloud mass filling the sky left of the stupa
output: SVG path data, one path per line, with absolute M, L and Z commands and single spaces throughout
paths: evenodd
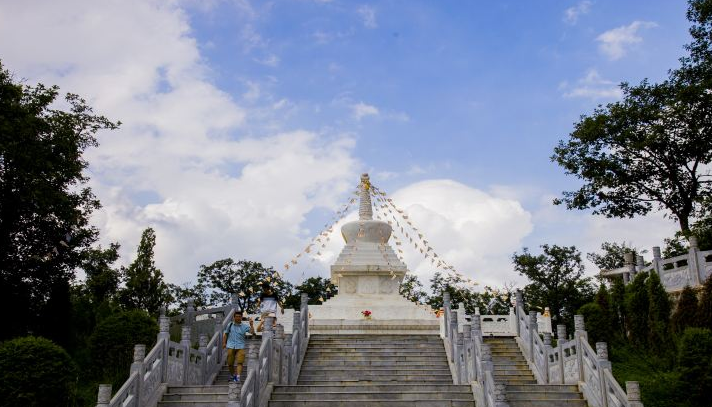
M 252 110 L 210 81 L 177 3 L 2 3 L 0 49 L 17 76 L 79 93 L 124 123 L 86 154 L 104 205 L 93 223 L 104 243 L 122 244 L 124 263 L 153 226 L 169 281 L 194 280 L 200 264 L 228 256 L 281 264 L 302 247 L 307 214 L 335 208 L 357 180 L 348 136 L 241 136 Z M 252 85 L 245 97 L 262 100 Z

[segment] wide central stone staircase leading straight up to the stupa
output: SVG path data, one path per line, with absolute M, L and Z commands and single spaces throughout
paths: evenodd
M 270 407 L 474 407 L 452 384 L 437 335 L 312 335 L 294 386 L 275 386 Z

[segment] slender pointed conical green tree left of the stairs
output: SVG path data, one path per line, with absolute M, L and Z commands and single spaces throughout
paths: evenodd
M 147 228 L 141 235 L 136 260 L 123 269 L 126 287 L 119 297 L 126 309 L 140 309 L 158 314 L 160 307 L 170 300 L 168 286 L 163 281 L 163 272 L 156 267 L 153 249 L 156 247 L 156 232 Z

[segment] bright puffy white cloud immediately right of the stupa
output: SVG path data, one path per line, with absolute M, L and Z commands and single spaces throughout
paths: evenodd
M 428 243 L 446 261 L 480 285 L 520 281 L 510 256 L 531 233 L 531 215 L 513 199 L 496 198 L 452 180 L 422 181 L 393 193 Z M 405 245 L 409 269 L 427 281 L 435 269 Z

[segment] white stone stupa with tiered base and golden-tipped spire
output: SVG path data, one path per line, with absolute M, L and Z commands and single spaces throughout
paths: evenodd
M 399 294 L 406 265 L 388 244 L 393 229 L 373 220 L 368 174 L 359 186 L 359 220 L 341 228 L 346 242 L 331 266 L 338 294 L 321 305 L 310 305 L 315 333 L 436 333 L 438 320 L 430 307 Z M 370 319 L 362 315 L 370 311 Z

